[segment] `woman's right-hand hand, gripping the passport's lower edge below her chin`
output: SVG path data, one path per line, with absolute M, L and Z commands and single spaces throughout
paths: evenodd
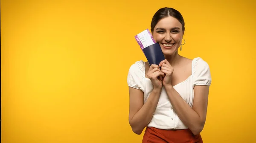
M 163 79 L 163 86 L 172 86 L 172 65 L 165 59 L 160 62 L 159 67 L 161 67 L 161 71 L 165 74 Z

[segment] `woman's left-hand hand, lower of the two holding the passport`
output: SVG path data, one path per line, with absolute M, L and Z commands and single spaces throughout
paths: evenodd
M 160 67 L 156 64 L 151 64 L 149 67 L 148 73 L 147 73 L 148 78 L 151 80 L 154 88 L 161 89 L 162 88 L 162 80 L 164 73 L 161 72 Z

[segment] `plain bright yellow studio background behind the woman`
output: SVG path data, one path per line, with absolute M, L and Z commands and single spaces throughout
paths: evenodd
M 126 78 L 165 6 L 212 73 L 204 143 L 255 142 L 255 0 L 1 0 L 2 143 L 140 143 Z

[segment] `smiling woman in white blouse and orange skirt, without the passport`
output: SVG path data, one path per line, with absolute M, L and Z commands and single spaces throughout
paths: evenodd
M 160 8 L 151 33 L 166 59 L 151 66 L 140 60 L 129 69 L 129 123 L 138 135 L 146 127 L 143 143 L 203 143 L 211 75 L 200 57 L 178 54 L 184 25 L 179 11 Z

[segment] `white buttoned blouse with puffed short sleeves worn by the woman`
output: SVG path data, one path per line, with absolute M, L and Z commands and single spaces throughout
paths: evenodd
M 211 74 L 209 65 L 200 57 L 192 60 L 192 75 L 185 81 L 174 86 L 174 89 L 180 96 L 186 101 L 186 103 L 192 107 L 194 98 L 194 86 L 211 84 Z M 153 90 L 153 84 L 151 80 L 145 77 L 145 62 L 142 60 L 135 62 L 131 65 L 128 71 L 127 83 L 129 87 L 133 87 L 142 90 L 144 93 L 144 104 L 147 101 L 151 91 Z M 147 125 L 158 129 L 187 129 L 177 113 L 173 110 L 172 104 L 169 101 L 168 95 L 164 88 L 160 94 L 160 99 L 157 104 L 157 108 L 154 112 L 153 118 Z

